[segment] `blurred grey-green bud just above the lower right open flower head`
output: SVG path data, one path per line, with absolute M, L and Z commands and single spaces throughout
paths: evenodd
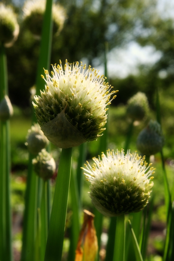
M 150 121 L 137 137 L 137 148 L 146 156 L 154 155 L 161 151 L 164 145 L 164 136 L 161 126 L 156 121 Z

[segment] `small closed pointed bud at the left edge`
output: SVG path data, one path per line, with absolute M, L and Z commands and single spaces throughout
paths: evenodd
M 10 119 L 10 117 L 13 115 L 13 107 L 10 102 L 10 99 L 7 95 L 3 98 L 3 100 L 0 103 L 0 119 L 1 121 L 6 121 Z

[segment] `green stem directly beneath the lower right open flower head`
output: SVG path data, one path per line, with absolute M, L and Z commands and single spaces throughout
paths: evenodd
M 125 252 L 125 214 L 117 217 L 113 261 L 124 261 Z

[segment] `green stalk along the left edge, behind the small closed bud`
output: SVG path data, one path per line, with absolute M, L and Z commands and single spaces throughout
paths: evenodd
M 3 44 L 0 45 L 0 101 L 8 95 L 8 71 L 6 52 Z M 1 151 L 0 151 L 0 259 L 12 261 L 11 235 L 11 205 L 10 205 L 10 122 L 1 122 Z

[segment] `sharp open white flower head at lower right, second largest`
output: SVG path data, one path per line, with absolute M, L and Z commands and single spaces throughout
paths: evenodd
M 91 183 L 92 203 L 99 212 L 113 217 L 138 212 L 146 206 L 153 187 L 150 176 L 155 172 L 151 163 L 147 167 L 145 156 L 108 150 L 107 156 L 102 153 L 102 159 L 93 160 L 92 166 L 87 162 L 83 169 Z

